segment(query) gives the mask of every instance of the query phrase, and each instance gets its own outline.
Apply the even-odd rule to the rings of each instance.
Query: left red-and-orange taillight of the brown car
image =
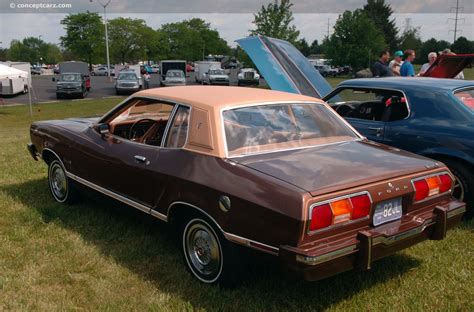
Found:
[[[309,230],[316,231],[331,225],[366,218],[370,214],[371,206],[372,201],[368,193],[315,204],[311,210]]]

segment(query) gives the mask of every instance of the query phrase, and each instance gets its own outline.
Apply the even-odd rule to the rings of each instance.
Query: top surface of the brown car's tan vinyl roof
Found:
[[[182,104],[196,105],[203,109],[220,109],[262,102],[320,101],[316,98],[260,88],[228,86],[182,86],[147,89],[134,96],[168,99]]]

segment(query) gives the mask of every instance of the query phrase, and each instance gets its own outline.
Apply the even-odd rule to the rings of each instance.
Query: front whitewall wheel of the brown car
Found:
[[[76,201],[77,191],[66,175],[62,163],[54,159],[48,165],[49,190],[58,203],[72,204]]]

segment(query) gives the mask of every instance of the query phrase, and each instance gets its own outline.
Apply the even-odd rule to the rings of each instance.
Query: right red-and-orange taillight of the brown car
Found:
[[[453,180],[447,173],[413,180],[415,202],[446,193],[451,190]]]

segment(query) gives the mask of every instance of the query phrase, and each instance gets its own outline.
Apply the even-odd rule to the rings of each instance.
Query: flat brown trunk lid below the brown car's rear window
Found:
[[[295,185],[312,196],[439,166],[427,158],[366,140],[250,155],[233,160]]]

